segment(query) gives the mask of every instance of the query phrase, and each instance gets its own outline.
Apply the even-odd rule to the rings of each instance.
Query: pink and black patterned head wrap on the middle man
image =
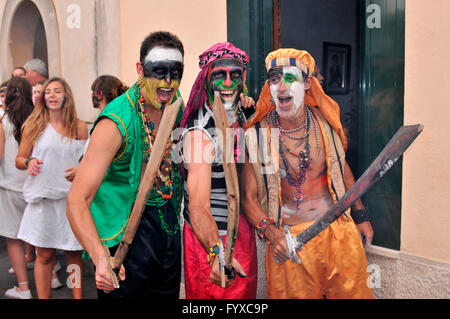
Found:
[[[192,86],[191,94],[189,96],[189,101],[186,105],[186,110],[184,111],[183,118],[181,119],[180,126],[185,127],[187,121],[192,117],[192,115],[200,109],[207,101],[208,95],[206,93],[206,88],[204,83],[208,75],[208,69],[212,62],[223,59],[223,58],[233,58],[242,63],[244,69],[247,68],[248,56],[244,50],[235,47],[230,42],[222,42],[213,45],[211,48],[203,52],[200,56],[200,73]]]

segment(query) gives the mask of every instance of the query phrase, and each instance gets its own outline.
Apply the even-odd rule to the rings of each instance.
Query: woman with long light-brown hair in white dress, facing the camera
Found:
[[[85,122],[75,111],[72,91],[60,78],[50,79],[35,110],[23,125],[16,167],[27,170],[23,188],[27,202],[18,237],[37,250],[34,266],[40,299],[50,298],[56,249],[65,251],[72,271],[72,294],[82,298],[82,246],[66,216],[70,167],[77,165],[88,138]]]

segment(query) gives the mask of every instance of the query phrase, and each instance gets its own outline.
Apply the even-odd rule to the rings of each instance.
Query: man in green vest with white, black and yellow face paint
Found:
[[[183,57],[183,44],[169,32],[151,33],[142,42],[137,83],[100,113],[70,190],[67,214],[96,266],[99,298],[179,297],[182,184],[172,163],[172,141],[164,150],[116,290],[102,245],[113,256],[123,237],[164,109],[180,97]],[[181,104],[174,128],[182,114]]]

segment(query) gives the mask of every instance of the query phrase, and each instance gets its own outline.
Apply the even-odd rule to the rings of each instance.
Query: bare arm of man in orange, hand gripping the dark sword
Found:
[[[252,164],[246,158],[240,170],[240,190],[241,190],[241,207],[244,215],[251,225],[256,227],[263,218],[269,218],[258,202],[258,188],[256,183],[255,172]],[[265,237],[273,246],[274,257],[280,261],[286,261],[289,258],[289,250],[287,248],[284,232],[275,225],[269,225],[264,233]]]

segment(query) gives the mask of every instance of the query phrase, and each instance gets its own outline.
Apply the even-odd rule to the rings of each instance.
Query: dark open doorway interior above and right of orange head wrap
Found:
[[[349,82],[346,83],[345,93],[327,93],[341,108],[341,122],[349,141],[347,161],[352,170],[358,172],[360,1],[277,0],[275,3],[279,3],[277,6],[281,9],[278,9],[280,22],[274,22],[274,25],[280,25],[281,30],[278,33],[280,39],[274,40],[274,43],[279,42],[283,48],[308,51],[325,78],[325,91],[332,80],[328,69],[331,68],[329,61],[333,51],[326,50],[327,44],[335,44],[334,48],[345,46],[349,50],[345,64]],[[274,10],[274,17],[276,12]],[[344,62],[342,60],[343,65]],[[340,72],[343,74],[343,71]]]

